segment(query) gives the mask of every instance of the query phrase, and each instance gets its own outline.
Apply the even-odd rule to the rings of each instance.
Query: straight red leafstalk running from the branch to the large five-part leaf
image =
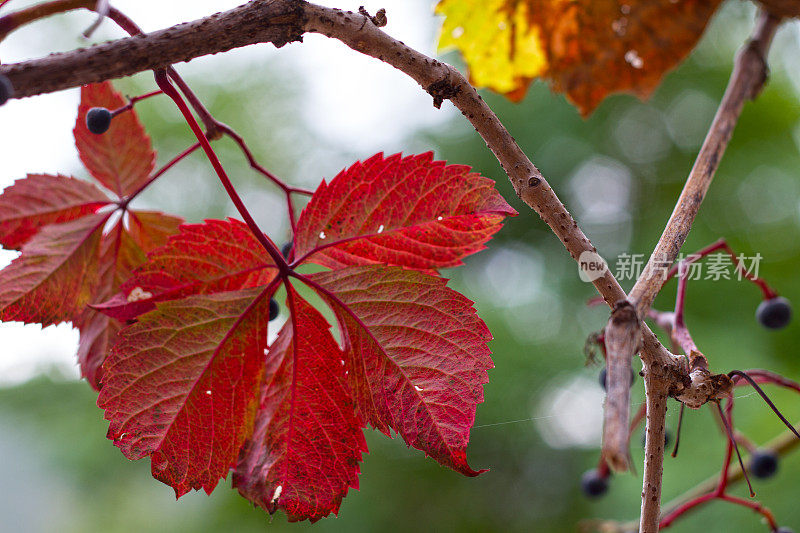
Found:
[[[239,211],[239,214],[244,219],[244,222],[250,228],[250,231],[253,232],[256,239],[261,243],[261,245],[267,250],[269,255],[272,257],[272,260],[275,262],[275,265],[278,267],[280,271],[280,276],[285,277],[289,271],[289,267],[286,264],[286,260],[281,255],[281,252],[278,248],[272,243],[272,241],[264,235],[264,232],[258,227],[256,221],[250,215],[250,212],[247,210],[247,207],[244,205],[239,193],[236,192],[236,189],[231,183],[228,174],[225,172],[225,169],[222,167],[222,163],[217,157],[217,154],[214,152],[214,149],[211,147],[211,143],[206,137],[206,134],[203,132],[203,129],[200,127],[200,124],[197,123],[197,120],[192,115],[192,112],[189,110],[189,106],[186,105],[186,102],[183,100],[183,97],[178,93],[175,87],[172,86],[172,83],[169,81],[169,77],[167,76],[166,70],[158,70],[155,73],[156,83],[164,91],[164,94],[169,96],[174,102],[175,105],[178,106],[180,109],[183,118],[189,124],[189,127],[192,129],[192,132],[197,137],[197,140],[200,142],[200,145],[203,148],[203,151],[208,156],[208,160],[211,162],[211,166],[214,167],[214,171],[219,176],[220,181],[222,182],[222,186],[225,188],[225,191],[230,196],[231,201],[233,201],[233,205],[236,206],[236,209]]]

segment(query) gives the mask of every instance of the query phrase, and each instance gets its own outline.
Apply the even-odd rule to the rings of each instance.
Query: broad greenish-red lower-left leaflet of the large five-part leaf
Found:
[[[210,493],[253,427],[271,291],[161,303],[120,332],[97,400],[109,438],[181,496]]]

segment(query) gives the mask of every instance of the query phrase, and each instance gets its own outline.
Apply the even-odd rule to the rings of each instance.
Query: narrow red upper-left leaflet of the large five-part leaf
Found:
[[[243,222],[185,225],[150,254],[120,294],[95,308],[129,320],[159,301],[266,285],[275,277],[271,266],[272,259]]]

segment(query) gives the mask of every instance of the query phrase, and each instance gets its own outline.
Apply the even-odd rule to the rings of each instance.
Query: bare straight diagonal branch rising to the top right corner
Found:
[[[755,98],[767,78],[766,56],[780,19],[762,13],[753,37],[739,52],[725,95],[703,141],[664,233],[630,293],[639,316],[644,316],[661,290],[666,272],[678,258],[697,212],[733,135],[745,101]]]

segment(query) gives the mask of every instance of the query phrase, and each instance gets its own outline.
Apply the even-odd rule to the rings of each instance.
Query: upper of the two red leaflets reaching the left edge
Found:
[[[108,203],[88,181],[28,174],[0,195],[0,244],[19,250],[43,226],[75,220]]]

